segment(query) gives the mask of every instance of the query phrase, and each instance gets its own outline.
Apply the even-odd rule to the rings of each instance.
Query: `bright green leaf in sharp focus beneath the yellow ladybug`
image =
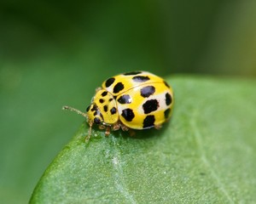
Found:
[[[172,120],[160,130],[83,124],[45,171],[31,203],[256,201],[256,82],[172,77]],[[68,115],[67,115],[68,116]]]

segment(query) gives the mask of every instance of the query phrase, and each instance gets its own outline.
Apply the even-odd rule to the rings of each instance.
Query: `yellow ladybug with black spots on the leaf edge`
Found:
[[[132,71],[102,82],[86,112],[69,106],[63,109],[87,118],[89,140],[93,124],[105,129],[106,136],[119,128],[123,131],[159,129],[172,115],[172,105],[172,88],[164,79],[148,71]]]

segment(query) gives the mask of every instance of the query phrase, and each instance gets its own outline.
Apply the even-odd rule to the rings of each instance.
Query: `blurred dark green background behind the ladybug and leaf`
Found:
[[[256,1],[1,1],[0,202],[26,203],[123,71],[256,76]]]

